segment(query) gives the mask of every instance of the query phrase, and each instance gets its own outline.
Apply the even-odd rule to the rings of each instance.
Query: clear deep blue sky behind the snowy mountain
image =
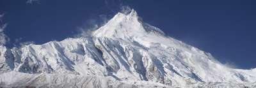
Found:
[[[210,52],[237,68],[256,67],[255,0],[0,0],[8,23],[9,47],[24,41],[36,44],[79,34],[78,27],[99,24],[127,5],[144,22],[169,36]],[[15,41],[19,39],[19,41]]]

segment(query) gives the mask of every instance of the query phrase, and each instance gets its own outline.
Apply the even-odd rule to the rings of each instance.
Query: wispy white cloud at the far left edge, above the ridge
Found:
[[[10,38],[4,34],[4,29],[7,27],[7,24],[3,23],[2,18],[4,17],[4,14],[0,15],[0,45],[5,45],[8,41],[10,41]]]

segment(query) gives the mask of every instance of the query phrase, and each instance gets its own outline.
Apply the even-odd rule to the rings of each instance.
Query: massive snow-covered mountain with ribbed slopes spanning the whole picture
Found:
[[[211,54],[117,13],[90,36],[22,48],[0,46],[2,87],[256,87],[256,69]]]

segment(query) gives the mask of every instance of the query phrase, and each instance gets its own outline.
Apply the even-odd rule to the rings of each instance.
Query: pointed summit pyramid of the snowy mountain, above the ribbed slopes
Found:
[[[147,32],[138,18],[133,9],[129,13],[119,12],[107,24],[94,31],[93,36],[123,39],[141,36]]]

